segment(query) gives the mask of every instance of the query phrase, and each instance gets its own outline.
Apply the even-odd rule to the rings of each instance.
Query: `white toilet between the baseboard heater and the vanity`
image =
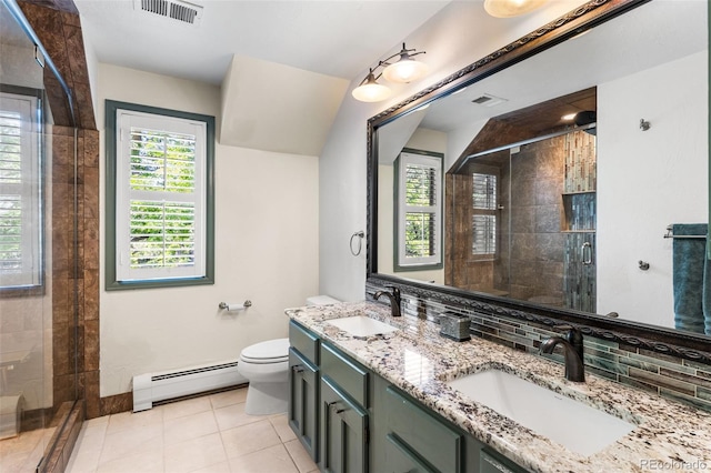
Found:
[[[307,305],[329,305],[339,301],[329,295],[307,299]],[[289,339],[267,340],[247,346],[240,353],[237,371],[247,378],[249,415],[287,412],[289,406]]]

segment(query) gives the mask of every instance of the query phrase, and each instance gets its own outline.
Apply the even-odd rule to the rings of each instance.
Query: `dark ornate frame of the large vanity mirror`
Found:
[[[483,313],[524,320],[548,326],[574,324],[589,336],[711,364],[711,339],[705,335],[680,332],[639,322],[615,320],[574,310],[543,308],[523,301],[405,280],[377,272],[378,128],[649,1],[653,0],[589,1],[368,120],[368,285],[380,288],[385,285],[397,286],[403,293],[411,294],[420,300],[445,302],[454,306],[473,309]]]

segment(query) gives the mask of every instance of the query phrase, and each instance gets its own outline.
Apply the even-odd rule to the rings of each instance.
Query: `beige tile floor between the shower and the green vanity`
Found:
[[[247,389],[84,422],[68,473],[310,473],[286,414],[244,414]]]

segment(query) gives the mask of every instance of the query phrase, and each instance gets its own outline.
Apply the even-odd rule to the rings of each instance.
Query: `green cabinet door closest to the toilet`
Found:
[[[293,349],[289,350],[289,425],[317,462],[319,445],[319,372]]]

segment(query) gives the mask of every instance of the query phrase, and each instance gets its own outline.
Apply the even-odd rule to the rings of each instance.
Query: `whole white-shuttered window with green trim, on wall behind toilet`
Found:
[[[213,282],[214,118],[107,101],[107,290]]]

